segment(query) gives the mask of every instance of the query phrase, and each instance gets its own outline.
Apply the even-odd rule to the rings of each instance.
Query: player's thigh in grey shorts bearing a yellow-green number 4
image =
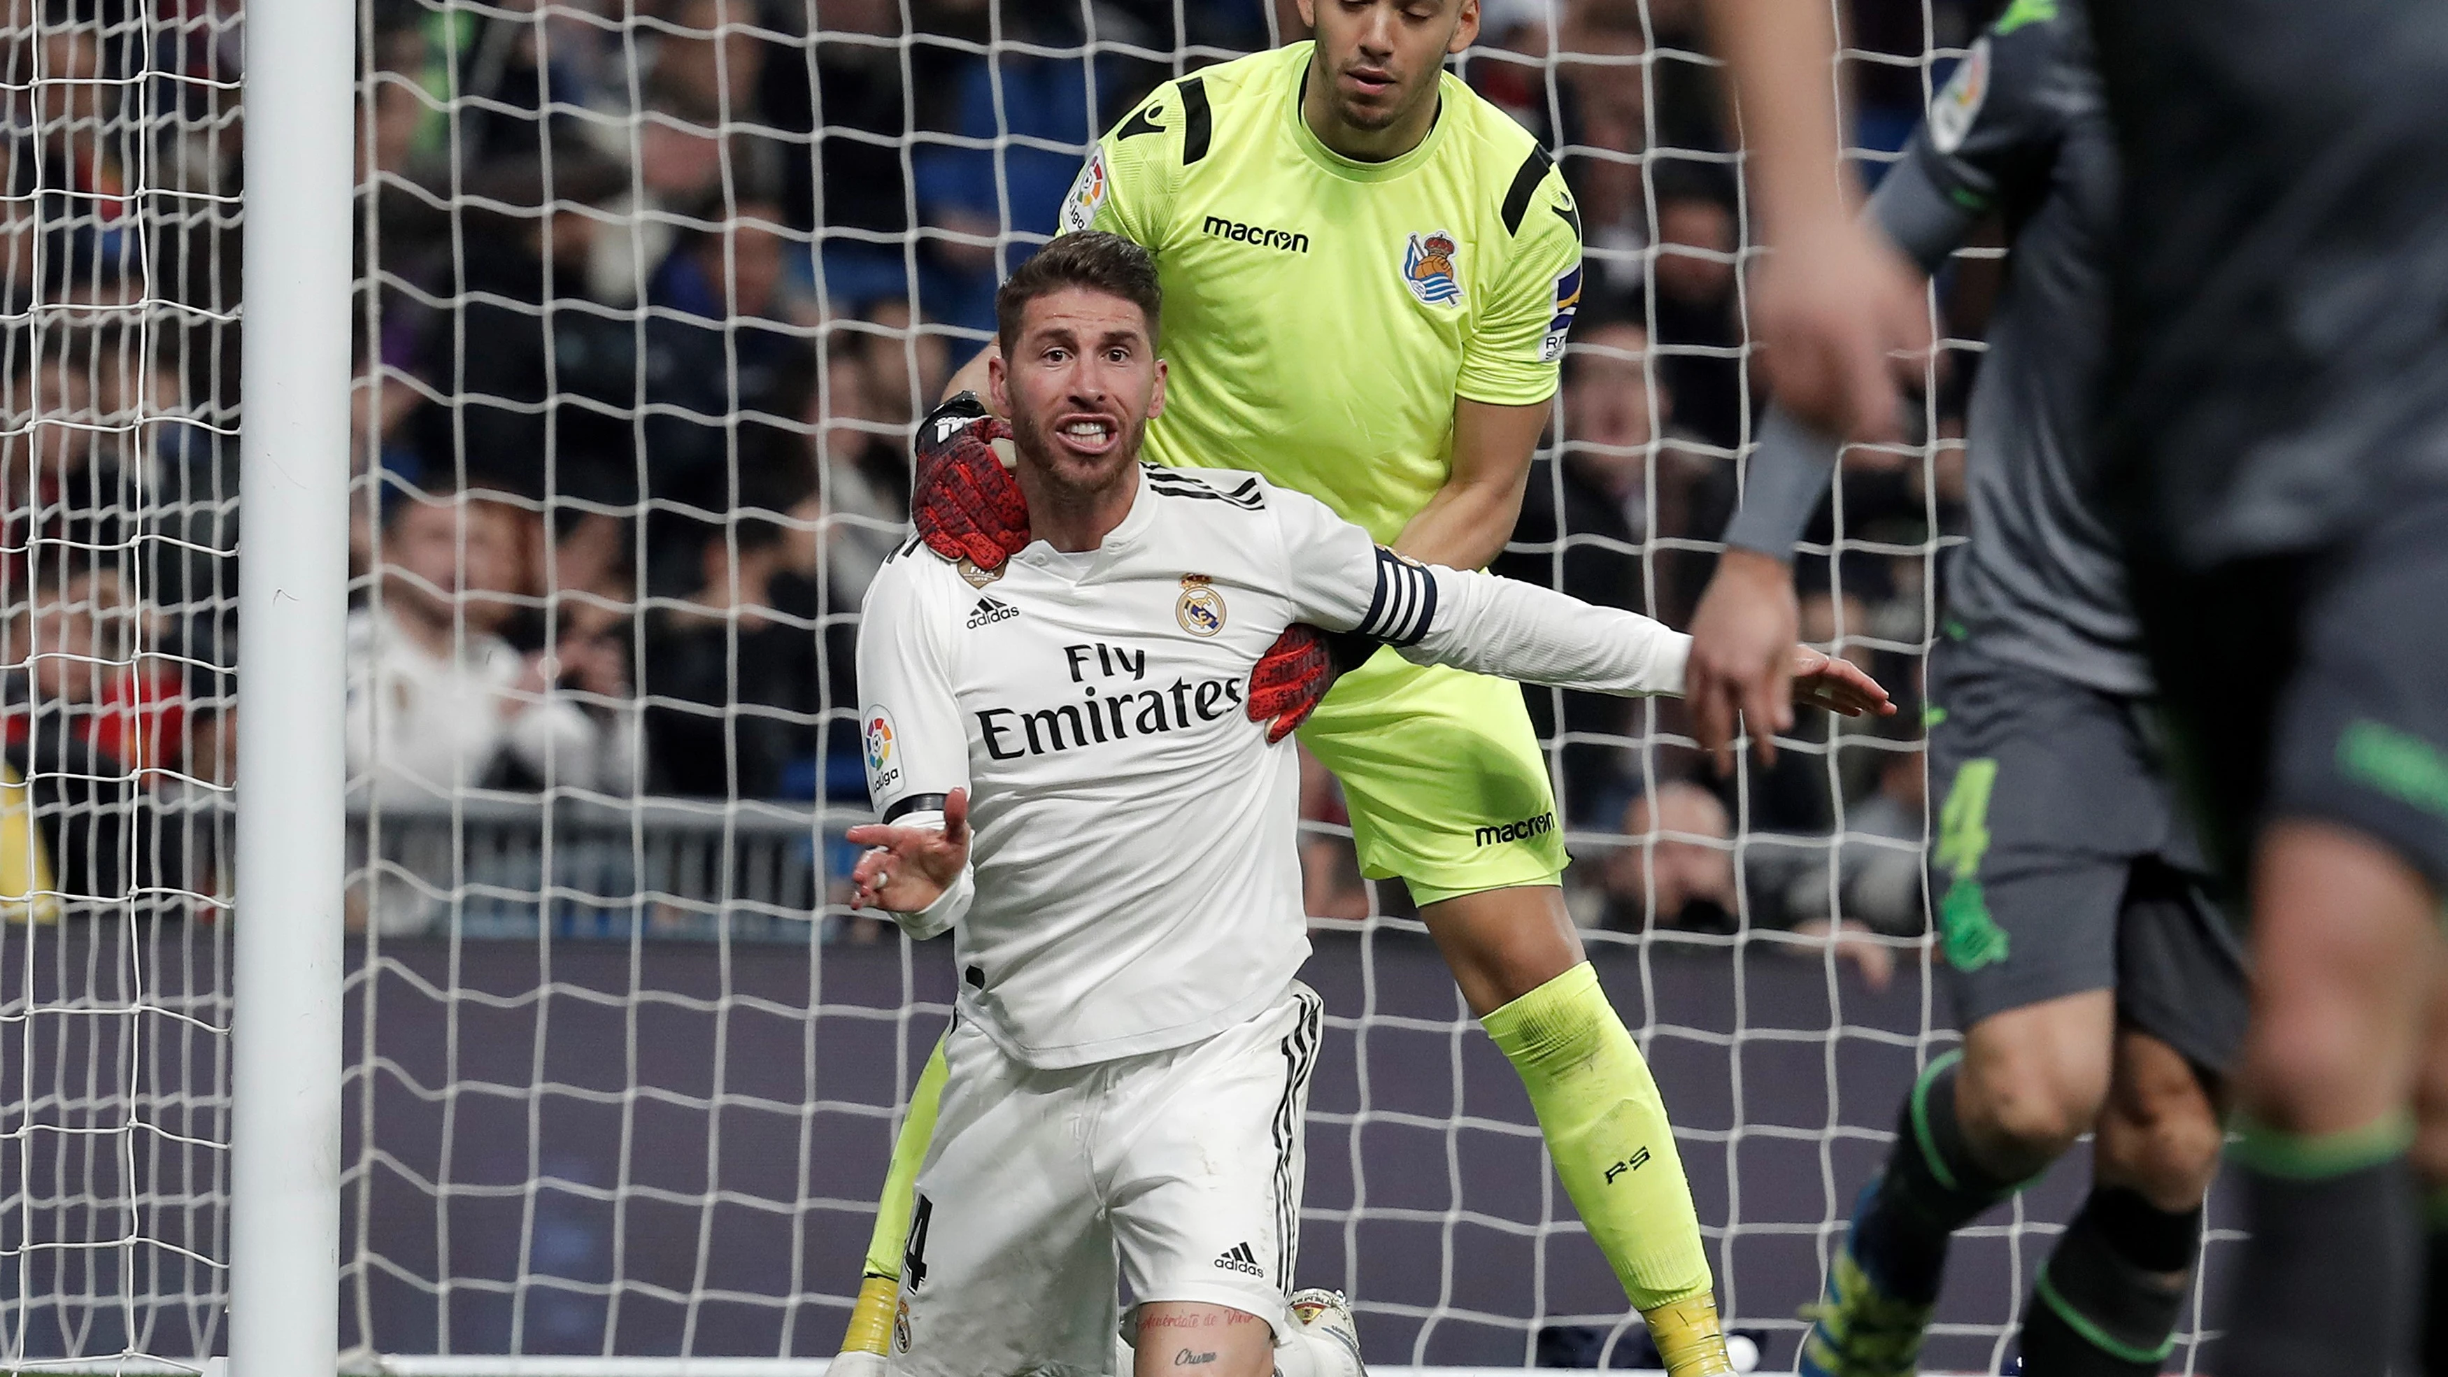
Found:
[[[1951,641],[1931,700],[1929,893],[1961,1027],[2113,988],[2130,873],[2171,827],[2127,707]]]

